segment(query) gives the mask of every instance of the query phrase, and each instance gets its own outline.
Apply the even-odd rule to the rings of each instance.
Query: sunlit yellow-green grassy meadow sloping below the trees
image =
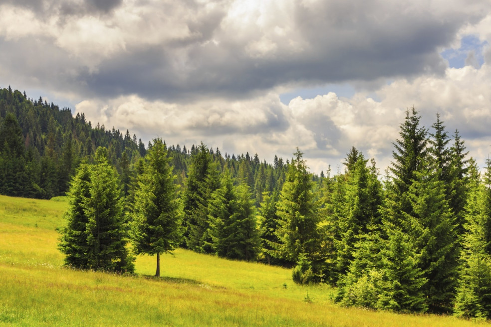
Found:
[[[135,276],[66,269],[66,206],[0,196],[0,326],[489,326],[340,308],[334,290],[297,286],[290,270],[186,250],[162,256],[160,279],[149,256]]]

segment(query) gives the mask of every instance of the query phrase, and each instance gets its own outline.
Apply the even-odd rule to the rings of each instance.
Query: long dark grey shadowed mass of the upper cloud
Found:
[[[293,26],[304,42],[298,53],[278,42],[274,55],[251,57],[243,39],[220,29],[223,12],[214,12],[188,22],[193,37],[175,39],[160,49],[135,47],[117,53],[97,73],[82,79],[99,95],[136,92],[149,99],[179,101],[248,97],[287,83],[441,75],[446,62],[438,49],[452,42],[469,19],[442,17],[430,10],[401,13],[375,1],[331,2],[320,1],[310,8],[296,4]],[[214,37],[219,44],[203,44]],[[259,37],[252,35],[246,41]],[[175,63],[175,52],[183,53],[183,65]]]

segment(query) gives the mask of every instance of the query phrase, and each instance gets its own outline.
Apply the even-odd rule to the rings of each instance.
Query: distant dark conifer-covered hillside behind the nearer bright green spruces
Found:
[[[128,130],[123,135],[114,127],[92,127],[83,113],[73,117],[69,108],[60,109],[41,97],[33,100],[10,87],[0,90],[0,194],[35,198],[63,195],[76,167],[82,160],[92,162],[98,147],[107,148],[127,194],[149,146],[150,142],[145,147]],[[177,182],[183,184],[191,157],[202,146],[168,148]],[[256,204],[264,190],[281,189],[285,172],[281,158],[275,156],[274,163],[268,164],[248,153],[231,156],[219,149],[207,151],[219,170],[228,167],[232,177],[247,182]],[[313,178],[317,179],[315,175]]]

